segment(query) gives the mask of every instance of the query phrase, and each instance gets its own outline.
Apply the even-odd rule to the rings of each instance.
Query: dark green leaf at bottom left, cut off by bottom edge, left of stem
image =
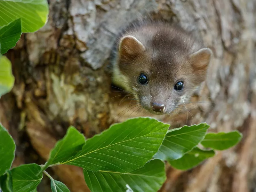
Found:
[[[15,192],[31,192],[43,178],[38,164],[24,164],[11,170],[12,188]]]

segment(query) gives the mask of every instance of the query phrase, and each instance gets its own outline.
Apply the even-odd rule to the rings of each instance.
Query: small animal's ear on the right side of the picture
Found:
[[[199,51],[192,53],[189,56],[189,60],[192,64],[192,67],[195,70],[207,70],[212,57],[212,50],[209,48],[203,48]]]

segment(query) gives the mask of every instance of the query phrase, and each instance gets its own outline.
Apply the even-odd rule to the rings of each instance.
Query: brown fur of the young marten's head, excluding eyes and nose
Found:
[[[212,55],[186,31],[164,23],[129,27],[118,38],[117,47],[114,68],[126,79],[123,87],[152,113],[153,102],[163,103],[164,113],[171,113],[200,85]],[[138,82],[141,73],[147,75],[148,84]],[[180,92],[174,90],[178,81],[184,82]]]

